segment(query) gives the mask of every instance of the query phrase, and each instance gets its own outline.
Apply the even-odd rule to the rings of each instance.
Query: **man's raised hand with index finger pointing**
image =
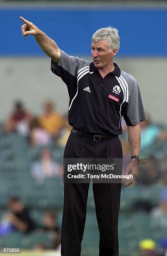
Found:
[[[32,22],[25,20],[22,17],[20,17],[20,20],[22,20],[25,23],[24,25],[21,26],[23,36],[35,36],[38,33],[39,28],[37,28]]]

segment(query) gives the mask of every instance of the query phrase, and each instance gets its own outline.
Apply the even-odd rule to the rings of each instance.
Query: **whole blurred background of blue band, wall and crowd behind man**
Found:
[[[114,26],[115,62],[140,85],[148,121],[141,123],[137,184],[122,185],[120,256],[167,254],[167,1],[0,1],[0,248],[60,256],[62,157],[70,134],[66,85],[20,15],[67,54],[91,61],[92,34]],[[123,169],[130,161],[122,120]],[[82,256],[98,255],[92,186]],[[49,253],[49,254],[47,254]],[[22,253],[24,254],[24,253]]]

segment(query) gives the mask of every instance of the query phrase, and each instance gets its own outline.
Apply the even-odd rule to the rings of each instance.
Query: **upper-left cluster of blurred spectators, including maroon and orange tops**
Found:
[[[68,115],[57,113],[51,100],[43,104],[43,113],[34,116],[25,109],[21,101],[14,104],[10,116],[3,125],[4,133],[16,132],[27,137],[30,148],[42,147],[40,161],[34,161],[31,174],[37,182],[45,177],[62,176],[62,164],[53,161],[50,144],[65,147],[72,127]]]

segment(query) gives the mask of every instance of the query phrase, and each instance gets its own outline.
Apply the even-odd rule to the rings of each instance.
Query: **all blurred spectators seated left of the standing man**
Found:
[[[54,109],[51,100],[43,104],[43,113],[35,116],[28,111],[21,101],[15,102],[9,117],[2,123],[2,133],[17,133],[27,138],[30,150],[41,147],[40,160],[33,161],[30,174],[37,183],[50,177],[62,177],[62,163],[52,159],[50,145],[65,147],[71,127],[68,116],[60,115]],[[17,146],[17,145],[16,145]],[[0,237],[15,230],[27,234],[33,230],[37,232],[51,231],[55,234],[52,248],[60,246],[60,227],[57,226],[55,212],[46,211],[41,227],[32,219],[29,209],[23,205],[18,197],[11,197],[7,202],[7,213],[0,221]],[[37,243],[37,249],[44,249],[44,243]]]

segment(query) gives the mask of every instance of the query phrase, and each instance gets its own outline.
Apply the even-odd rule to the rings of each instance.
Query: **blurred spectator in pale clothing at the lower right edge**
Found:
[[[150,214],[153,228],[167,229],[167,185],[162,189],[159,205],[154,207]]]

